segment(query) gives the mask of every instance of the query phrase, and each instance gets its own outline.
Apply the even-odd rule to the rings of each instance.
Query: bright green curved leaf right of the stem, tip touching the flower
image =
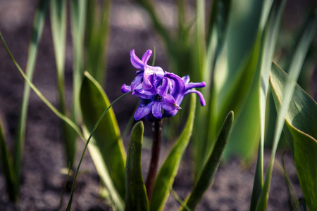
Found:
[[[178,141],[173,146],[168,154],[168,157],[163,162],[159,174],[157,174],[153,194],[151,198],[151,211],[163,210],[165,202],[169,195],[170,186],[173,185],[175,176],[178,172],[178,167],[182,159],[182,154],[185,152],[192,135],[192,127],[194,124],[194,113],[196,109],[196,95],[191,95],[190,110],[185,128]]]

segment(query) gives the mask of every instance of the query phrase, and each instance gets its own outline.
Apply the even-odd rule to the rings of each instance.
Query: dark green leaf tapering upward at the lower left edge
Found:
[[[16,191],[16,177],[13,170],[13,163],[6,146],[6,140],[4,135],[4,125],[0,118],[0,162],[2,170],[4,172],[4,177],[6,179],[6,190],[11,201],[16,202],[18,199],[18,191]]]

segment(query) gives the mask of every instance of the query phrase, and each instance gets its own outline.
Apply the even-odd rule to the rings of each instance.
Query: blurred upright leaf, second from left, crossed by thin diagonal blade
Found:
[[[67,1],[56,0],[50,1],[51,13],[51,32],[54,44],[54,53],[57,72],[58,86],[58,103],[61,113],[69,116],[66,105],[65,94],[65,49],[66,49],[66,25],[67,25]],[[63,143],[66,150],[66,162],[70,162],[70,167],[73,167],[76,154],[76,133],[66,122],[62,122],[61,130],[63,133]]]

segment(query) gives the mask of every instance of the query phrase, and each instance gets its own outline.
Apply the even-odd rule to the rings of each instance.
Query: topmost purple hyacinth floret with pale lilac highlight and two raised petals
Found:
[[[142,88],[143,89],[151,89],[153,87],[153,84],[149,82],[149,77],[151,75],[154,75],[154,84],[157,84],[158,82],[161,81],[161,79],[164,77],[165,72],[161,67],[154,67],[147,65],[147,62],[149,58],[152,55],[151,50],[147,50],[143,56],[142,59],[140,60],[136,55],[135,55],[135,50],[130,51],[130,60],[132,65],[137,68],[137,70],[141,70],[139,73],[143,73],[143,83],[142,83]]]

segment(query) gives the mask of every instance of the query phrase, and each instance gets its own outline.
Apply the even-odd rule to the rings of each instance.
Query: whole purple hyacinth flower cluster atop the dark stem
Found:
[[[185,95],[196,93],[200,98],[202,106],[206,105],[204,96],[193,88],[205,87],[205,82],[189,83],[189,76],[179,77],[170,72],[164,71],[160,67],[147,65],[152,51],[147,50],[139,59],[135,55],[135,50],[130,52],[131,63],[137,68],[135,79],[131,85],[121,87],[121,91],[137,95],[141,99],[139,107],[135,111],[135,120],[146,120],[153,122],[155,118],[172,117],[180,110],[180,103]],[[163,113],[162,113],[163,109]]]

